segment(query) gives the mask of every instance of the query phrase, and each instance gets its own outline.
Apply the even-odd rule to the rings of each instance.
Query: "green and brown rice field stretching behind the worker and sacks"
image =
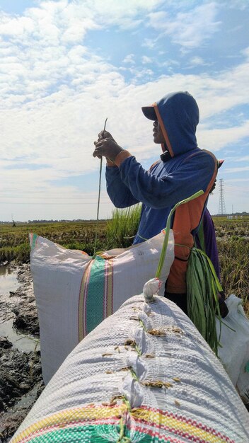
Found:
[[[129,217],[129,214],[127,216]],[[110,225],[110,221],[98,222],[96,251],[127,247],[132,244],[132,235],[137,230],[139,212],[135,217],[134,224],[129,226],[129,230],[127,230],[126,219],[119,218],[117,223],[115,217],[114,214],[115,222],[112,225]],[[125,226],[121,226],[122,223]],[[115,235],[117,226],[121,232],[118,236]],[[245,304],[245,310],[249,313],[249,217],[237,219],[214,217],[214,226],[219,249],[221,284],[224,292],[226,295],[233,293],[241,297]],[[49,238],[66,248],[80,249],[93,255],[95,231],[96,224],[93,221],[17,224],[16,227],[13,227],[12,224],[1,224],[0,263],[11,260],[16,260],[17,263],[28,263],[30,253],[28,234],[30,232]],[[124,244],[120,240],[122,236],[125,237]]]

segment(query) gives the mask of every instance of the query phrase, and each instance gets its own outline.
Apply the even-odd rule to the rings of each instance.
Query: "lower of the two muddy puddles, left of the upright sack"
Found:
[[[33,335],[22,334],[13,328],[13,321],[0,324],[0,337],[7,337],[13,347],[22,352],[40,350],[40,341]]]

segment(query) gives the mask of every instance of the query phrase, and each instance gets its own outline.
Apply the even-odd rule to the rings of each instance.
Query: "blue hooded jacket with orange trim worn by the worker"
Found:
[[[142,110],[149,119],[159,121],[168,153],[163,154],[149,171],[128,151],[125,155],[122,151],[120,163],[115,161],[118,166],[106,168],[107,191],[115,207],[143,204],[134,244],[164,229],[170,209],[177,202],[199,190],[206,192],[214,182],[217,165],[213,154],[197,146],[195,131],[199,109],[189,93],[169,93]],[[204,205],[207,197],[208,194]],[[197,225],[200,217],[197,217]]]

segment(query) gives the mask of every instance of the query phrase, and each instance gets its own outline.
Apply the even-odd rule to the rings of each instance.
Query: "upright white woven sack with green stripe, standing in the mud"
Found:
[[[82,251],[30,235],[45,384],[85,335],[129,297],[140,294],[144,282],[156,275],[164,236],[161,232],[137,246],[107,251],[93,259]],[[173,258],[170,231],[161,295]]]

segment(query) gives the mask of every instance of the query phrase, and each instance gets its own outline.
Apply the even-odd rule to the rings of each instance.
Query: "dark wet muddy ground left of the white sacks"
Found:
[[[0,290],[0,323],[13,321],[17,332],[30,338],[30,350],[22,351],[0,336],[0,442],[8,442],[42,392],[39,324],[30,265],[16,272],[20,286],[8,297]],[[12,323],[11,323],[12,324]],[[23,335],[21,335],[23,337]]]

